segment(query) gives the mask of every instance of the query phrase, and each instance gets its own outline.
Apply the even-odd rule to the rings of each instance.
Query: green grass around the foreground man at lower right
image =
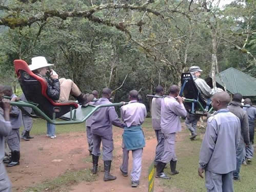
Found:
[[[187,130],[185,132],[188,132]],[[178,188],[186,192],[206,191],[205,179],[198,176],[198,162],[201,148],[201,139],[190,141],[185,137],[177,142],[176,155],[178,157],[177,170],[180,174],[171,176],[170,180],[161,180],[166,188]],[[256,191],[256,160],[247,166],[241,166],[241,181],[234,182],[234,191],[247,192]],[[170,167],[165,169],[168,176]]]

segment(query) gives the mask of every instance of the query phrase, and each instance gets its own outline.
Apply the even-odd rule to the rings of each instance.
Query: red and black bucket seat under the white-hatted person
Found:
[[[76,102],[54,102],[47,95],[47,81],[43,77],[30,71],[28,64],[24,60],[14,60],[13,62],[18,82],[26,99],[30,102],[38,103],[37,107],[49,118],[53,118],[54,112],[57,118],[68,113],[70,109],[78,107]],[[36,115],[40,116],[40,114]]]

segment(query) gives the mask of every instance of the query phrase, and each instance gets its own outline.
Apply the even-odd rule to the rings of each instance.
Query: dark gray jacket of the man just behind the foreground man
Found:
[[[240,102],[232,101],[228,106],[230,112],[237,116],[241,123],[241,141],[249,144],[249,123],[247,113],[243,110],[243,105]]]

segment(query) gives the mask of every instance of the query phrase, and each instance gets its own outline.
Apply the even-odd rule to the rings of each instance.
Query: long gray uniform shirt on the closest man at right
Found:
[[[215,174],[227,174],[237,166],[236,148],[240,140],[240,120],[221,109],[207,120],[199,166]]]

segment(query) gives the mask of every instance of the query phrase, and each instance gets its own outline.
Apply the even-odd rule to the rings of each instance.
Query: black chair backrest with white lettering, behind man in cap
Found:
[[[185,85],[184,85],[185,83]],[[183,96],[187,99],[195,99],[198,100],[205,109],[206,102],[203,99],[201,93],[199,92],[198,88],[195,85],[195,82],[193,80],[193,76],[191,73],[182,73],[181,75],[181,84],[183,89]],[[192,103],[191,102],[184,102],[185,108],[190,112],[192,109]],[[199,110],[199,105],[194,103],[194,110]]]

